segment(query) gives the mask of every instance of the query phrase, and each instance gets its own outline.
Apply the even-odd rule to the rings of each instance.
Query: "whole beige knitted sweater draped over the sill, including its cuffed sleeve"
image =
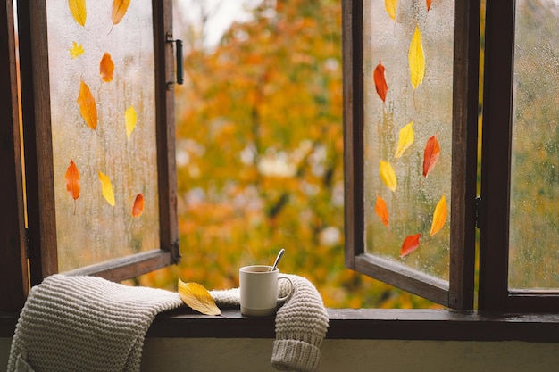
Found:
[[[271,363],[280,370],[314,371],[328,316],[313,285],[289,277],[295,290],[276,317]],[[219,306],[236,306],[238,293],[212,292]],[[178,293],[161,289],[99,277],[47,277],[21,310],[7,371],[139,371],[155,315],[181,305]]]

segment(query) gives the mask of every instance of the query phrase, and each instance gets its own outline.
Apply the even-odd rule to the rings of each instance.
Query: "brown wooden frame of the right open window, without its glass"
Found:
[[[365,252],[363,1],[343,1],[346,267],[453,309],[474,296],[480,2],[455,1],[449,280]]]

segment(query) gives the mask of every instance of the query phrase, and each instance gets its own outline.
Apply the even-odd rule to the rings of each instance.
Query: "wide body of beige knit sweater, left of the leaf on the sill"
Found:
[[[11,371],[139,371],[155,315],[182,304],[178,293],[99,277],[47,277],[21,310]]]

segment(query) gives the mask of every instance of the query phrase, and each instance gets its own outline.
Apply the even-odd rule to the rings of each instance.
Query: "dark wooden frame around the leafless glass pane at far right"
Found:
[[[479,308],[555,312],[559,291],[508,287],[516,6],[496,0],[486,7]]]

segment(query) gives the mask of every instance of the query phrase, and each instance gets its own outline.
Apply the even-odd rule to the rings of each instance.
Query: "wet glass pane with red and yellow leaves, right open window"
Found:
[[[447,280],[454,2],[366,0],[363,18],[366,251]]]

